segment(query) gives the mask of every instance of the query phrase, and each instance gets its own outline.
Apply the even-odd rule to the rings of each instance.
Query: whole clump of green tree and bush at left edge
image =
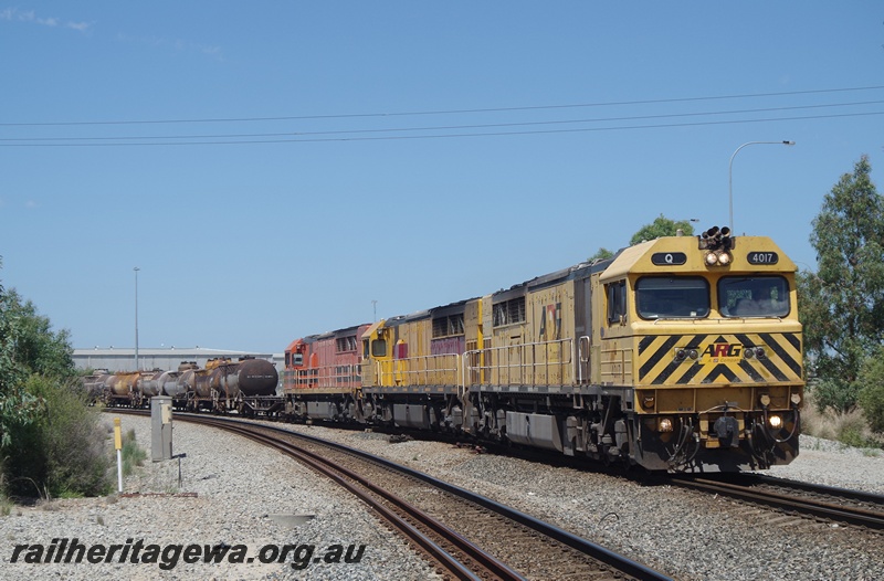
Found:
[[[70,334],[0,286],[0,485],[45,496],[108,488],[99,414],[76,379]]]

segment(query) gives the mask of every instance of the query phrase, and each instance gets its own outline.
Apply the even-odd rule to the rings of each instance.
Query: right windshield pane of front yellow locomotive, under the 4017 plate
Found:
[[[718,308],[725,317],[785,317],[789,283],[782,276],[725,276],[718,281]]]

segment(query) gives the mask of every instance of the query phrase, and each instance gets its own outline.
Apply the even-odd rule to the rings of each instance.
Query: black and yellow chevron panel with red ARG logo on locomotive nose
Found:
[[[764,357],[746,358],[764,348]],[[697,356],[678,360],[676,353]],[[655,335],[639,341],[640,385],[781,383],[801,381],[797,332]]]

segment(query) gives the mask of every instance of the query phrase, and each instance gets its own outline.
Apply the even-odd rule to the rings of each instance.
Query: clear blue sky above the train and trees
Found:
[[[726,224],[781,140],[735,230],[815,268],[883,45],[877,1],[0,0],[0,282],[131,347],[138,266],[141,348],[278,352]]]

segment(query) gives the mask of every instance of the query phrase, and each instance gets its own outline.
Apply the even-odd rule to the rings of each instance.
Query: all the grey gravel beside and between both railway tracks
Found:
[[[150,450],[148,420],[123,416],[123,425],[124,430],[134,427],[139,443]],[[390,444],[387,436],[370,432],[288,429],[367,450],[476,489],[680,580],[881,577],[884,536],[771,515],[667,486],[648,487],[440,443]],[[796,462],[769,473],[884,494],[884,455],[809,436],[801,436],[801,445]],[[177,462],[148,461],[137,477],[126,480],[126,490],[180,490],[197,493],[196,498],[112,496],[13,509],[10,516],[0,517],[0,554],[6,561],[0,579],[433,578],[433,572],[359,503],[294,462],[242,439],[224,440],[210,429],[185,422],[175,424],[173,451],[187,453],[181,461],[180,489]],[[293,527],[276,516],[302,514],[315,518]],[[32,550],[29,548],[22,550],[19,562],[9,562],[17,545],[49,547],[56,538],[77,538],[88,546],[126,545],[133,539],[133,547],[144,539],[145,551],[150,543],[165,548],[225,542],[234,548],[246,546],[249,556],[255,559],[252,563],[186,563],[182,553],[169,570],[161,569],[161,562],[119,563],[119,559],[99,564],[32,564],[22,562]],[[262,547],[286,543],[302,552],[290,554],[285,563],[259,562]],[[313,558],[325,557],[336,545],[345,552],[351,545],[366,548],[358,563],[345,563],[341,556],[337,563],[320,560],[308,562],[302,570],[293,569],[292,563],[306,554],[309,545],[316,547]]]

